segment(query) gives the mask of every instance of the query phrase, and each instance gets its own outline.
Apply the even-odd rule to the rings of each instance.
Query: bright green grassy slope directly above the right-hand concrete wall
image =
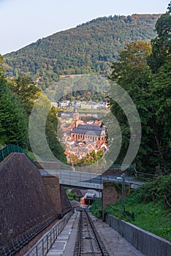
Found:
[[[132,202],[133,199],[134,195],[126,198],[124,215],[121,214],[121,201],[108,206],[105,214],[111,214],[171,241],[171,211],[170,208],[164,210],[163,200],[157,200],[156,203],[136,203]]]

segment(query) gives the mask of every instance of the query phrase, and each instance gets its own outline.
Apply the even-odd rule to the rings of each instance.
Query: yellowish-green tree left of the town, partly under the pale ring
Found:
[[[29,121],[31,148],[42,159],[55,160],[57,158],[66,162],[64,148],[58,142],[57,126],[56,109],[51,108],[50,101],[44,94],[41,94],[34,105]]]

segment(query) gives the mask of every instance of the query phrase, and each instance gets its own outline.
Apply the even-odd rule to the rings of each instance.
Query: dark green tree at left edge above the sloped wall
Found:
[[[0,77],[0,143],[27,147],[26,113],[20,99],[12,94],[7,79]]]

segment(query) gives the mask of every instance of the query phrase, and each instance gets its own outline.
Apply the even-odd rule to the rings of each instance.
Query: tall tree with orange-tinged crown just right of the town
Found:
[[[127,45],[126,50],[120,54],[119,63],[112,66],[110,80],[122,86],[137,107],[142,124],[142,140],[135,162],[141,170],[152,172],[164,159],[151,92],[151,69],[147,64],[150,54],[151,46],[146,42],[132,42]],[[129,146],[129,124],[123,110],[115,101],[110,100],[110,108],[121,125],[123,143],[118,157],[118,162],[121,163]]]

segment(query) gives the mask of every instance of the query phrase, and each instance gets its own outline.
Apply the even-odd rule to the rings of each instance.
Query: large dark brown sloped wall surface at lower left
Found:
[[[0,246],[55,214],[39,170],[12,154],[0,165]]]

